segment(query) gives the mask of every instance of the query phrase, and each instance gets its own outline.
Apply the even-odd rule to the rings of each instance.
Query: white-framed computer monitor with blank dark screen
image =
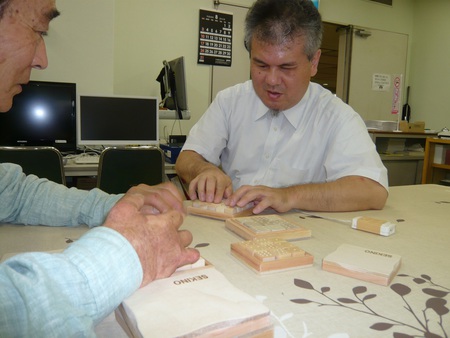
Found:
[[[158,145],[158,99],[80,95],[77,143],[78,146]]]

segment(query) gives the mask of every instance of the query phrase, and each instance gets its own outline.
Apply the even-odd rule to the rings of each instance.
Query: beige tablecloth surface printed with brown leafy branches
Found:
[[[424,336],[426,327],[449,336],[449,187],[392,187],[383,210],[314,214],[341,220],[375,217],[396,222],[397,231],[383,237],[287,213],[287,218],[312,230],[311,238],[293,243],[314,256],[314,265],[258,275],[231,256],[230,244],[242,239],[225,229],[223,221],[188,216],[183,227],[193,233],[193,246],[199,246],[205,259],[271,309],[276,337],[386,337],[394,332]],[[0,255],[62,249],[86,230],[0,225]],[[323,271],[322,259],[343,243],[400,255],[399,274],[390,286],[381,286]],[[113,315],[96,331],[100,337],[125,337]]]

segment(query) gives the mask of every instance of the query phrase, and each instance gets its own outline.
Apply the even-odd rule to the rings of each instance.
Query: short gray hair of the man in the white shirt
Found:
[[[322,19],[311,0],[257,0],[245,18],[245,48],[252,39],[283,44],[305,37],[305,54],[312,60],[322,44]]]

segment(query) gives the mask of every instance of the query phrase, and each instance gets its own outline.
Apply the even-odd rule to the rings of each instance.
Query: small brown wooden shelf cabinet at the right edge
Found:
[[[422,183],[446,184],[450,180],[450,139],[428,138],[425,144]]]

